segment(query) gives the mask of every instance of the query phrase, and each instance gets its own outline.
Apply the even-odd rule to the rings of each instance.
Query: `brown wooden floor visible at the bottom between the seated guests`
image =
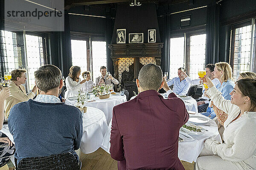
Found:
[[[81,170],[117,170],[117,161],[112,159],[110,154],[101,147],[93,153],[81,153],[80,160],[82,161]],[[193,170],[193,164],[183,162],[185,170]],[[1,167],[0,170],[9,170],[7,165]]]

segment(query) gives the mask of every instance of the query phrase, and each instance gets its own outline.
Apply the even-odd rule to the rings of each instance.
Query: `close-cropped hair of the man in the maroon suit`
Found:
[[[141,68],[138,79],[140,87],[144,91],[158,91],[163,82],[163,72],[159,66],[155,64],[147,64]]]

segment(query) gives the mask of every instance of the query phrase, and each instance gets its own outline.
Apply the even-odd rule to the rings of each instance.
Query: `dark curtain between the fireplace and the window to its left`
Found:
[[[112,36],[113,36],[113,26],[114,26],[114,19],[111,17],[107,17],[106,18],[106,31],[105,31],[105,38],[106,38],[106,42],[107,42],[107,68],[108,71],[110,71],[110,73],[112,74],[112,76],[114,75],[114,66],[113,66],[113,62],[111,59],[111,50],[110,48],[108,48],[108,45],[111,44],[112,41]]]

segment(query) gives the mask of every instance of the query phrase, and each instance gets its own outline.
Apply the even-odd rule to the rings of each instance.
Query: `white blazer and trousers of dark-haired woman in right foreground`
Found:
[[[228,113],[224,122],[223,140],[220,144],[213,139],[205,141],[205,149],[212,156],[202,156],[197,159],[195,170],[256,170],[256,112],[247,112],[233,121],[240,109],[230,100],[225,100],[221,92],[214,86],[206,92],[217,108]],[[232,122],[233,121],[233,122]],[[217,157],[216,157],[217,156]],[[214,161],[214,164],[211,163]],[[220,166],[221,167],[218,167]],[[207,168],[206,168],[207,167]]]

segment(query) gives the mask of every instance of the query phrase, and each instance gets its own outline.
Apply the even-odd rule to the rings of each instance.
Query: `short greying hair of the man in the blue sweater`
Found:
[[[34,73],[35,84],[38,89],[47,93],[47,91],[57,88],[61,82],[61,71],[55,65],[43,65]]]

